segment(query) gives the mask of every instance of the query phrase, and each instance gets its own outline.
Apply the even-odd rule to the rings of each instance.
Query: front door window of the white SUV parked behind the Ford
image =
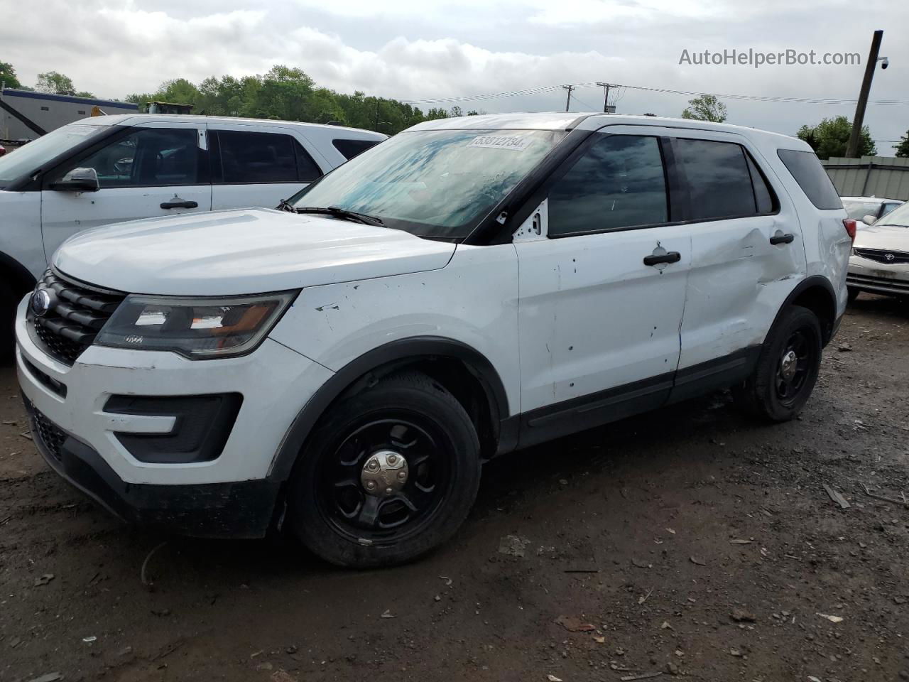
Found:
[[[201,156],[195,128],[137,128],[76,166],[95,168],[102,188],[197,185]]]

